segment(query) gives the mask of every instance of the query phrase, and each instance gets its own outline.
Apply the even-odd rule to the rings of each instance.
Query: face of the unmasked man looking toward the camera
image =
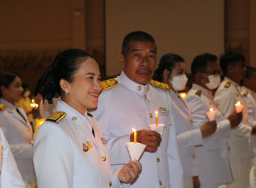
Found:
[[[156,44],[152,42],[129,42],[129,50],[119,54],[125,75],[138,84],[147,84],[156,68]]]

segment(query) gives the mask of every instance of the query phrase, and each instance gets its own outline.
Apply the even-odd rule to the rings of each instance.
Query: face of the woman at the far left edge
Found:
[[[20,77],[15,77],[8,88],[1,86],[1,92],[3,94],[3,99],[11,104],[22,99],[24,89],[22,88],[22,79]]]

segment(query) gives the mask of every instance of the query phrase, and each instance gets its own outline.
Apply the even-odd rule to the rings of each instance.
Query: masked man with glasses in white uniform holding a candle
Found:
[[[212,139],[203,140],[203,144],[195,148],[199,180],[203,188],[217,188],[232,182],[228,137],[230,130],[236,128],[243,117],[242,113],[233,111],[225,118],[214,102],[212,91],[220,84],[221,75],[217,60],[217,56],[208,53],[193,59],[191,64],[193,85],[186,97],[192,109],[193,128],[200,128],[209,121],[206,113],[211,108],[216,112],[214,120],[217,122],[217,129]]]

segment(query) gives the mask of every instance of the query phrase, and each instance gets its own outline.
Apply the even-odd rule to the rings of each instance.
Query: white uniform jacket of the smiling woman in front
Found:
[[[120,169],[111,173],[98,123],[61,100],[57,111],[67,115],[59,123],[46,121],[36,134],[33,161],[38,187],[120,187]]]

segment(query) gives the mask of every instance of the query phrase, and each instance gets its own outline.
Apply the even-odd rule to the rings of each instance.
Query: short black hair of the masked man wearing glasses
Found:
[[[191,63],[191,76],[195,79],[195,75],[207,69],[207,62],[216,61],[218,57],[214,54],[201,54],[196,56]]]

